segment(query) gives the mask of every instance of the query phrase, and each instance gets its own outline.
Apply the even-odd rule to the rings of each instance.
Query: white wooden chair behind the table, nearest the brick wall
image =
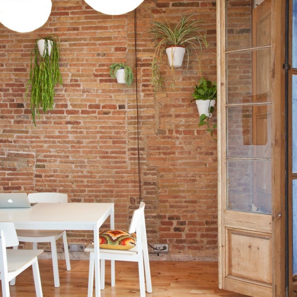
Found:
[[[62,193],[31,193],[28,194],[30,203],[67,203],[68,196],[67,194]],[[59,270],[58,270],[58,257],[57,257],[57,247],[56,240],[62,237],[65,260],[67,270],[71,270],[68,244],[65,230],[16,230],[19,241],[22,242],[32,242],[33,249],[37,249],[37,243],[39,242],[50,242],[51,251],[52,251],[52,261],[53,261],[53,270],[54,270],[54,284],[55,287],[60,286],[59,280]],[[18,248],[18,247],[14,247]],[[15,284],[15,279],[11,281],[11,285]]]

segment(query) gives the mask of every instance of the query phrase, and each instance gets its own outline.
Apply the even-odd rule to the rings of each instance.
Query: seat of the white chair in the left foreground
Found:
[[[8,272],[17,271],[42,252],[43,250],[6,249]]]

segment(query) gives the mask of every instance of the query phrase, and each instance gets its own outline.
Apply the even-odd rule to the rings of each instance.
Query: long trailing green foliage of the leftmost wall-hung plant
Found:
[[[37,42],[41,39],[45,40],[43,57],[41,57],[37,46]],[[48,41],[50,41],[52,46],[50,56]],[[56,95],[54,87],[56,84],[62,85],[62,76],[59,70],[59,47],[60,42],[58,41],[58,37],[51,34],[38,38],[31,52],[30,77],[26,87],[25,100],[27,100],[29,85],[31,84],[30,109],[35,126],[36,114],[40,118],[39,108],[42,107],[44,113],[47,110],[53,110],[54,96]],[[33,53],[34,66],[32,61]]]

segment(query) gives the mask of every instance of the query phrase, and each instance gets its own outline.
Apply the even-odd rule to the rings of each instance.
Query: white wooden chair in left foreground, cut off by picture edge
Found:
[[[9,297],[9,281],[32,265],[36,296],[42,297],[37,256],[43,250],[6,249],[19,244],[12,222],[0,222],[0,276],[2,296]]]

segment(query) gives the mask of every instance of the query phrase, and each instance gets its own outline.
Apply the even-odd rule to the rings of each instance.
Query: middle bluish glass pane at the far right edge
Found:
[[[293,173],[297,173],[297,75],[292,77],[292,136]]]

